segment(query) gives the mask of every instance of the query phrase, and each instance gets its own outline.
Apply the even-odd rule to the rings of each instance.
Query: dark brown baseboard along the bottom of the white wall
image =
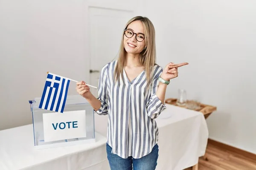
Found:
[[[233,146],[230,146],[228,144],[224,144],[224,143],[215,141],[213,139],[208,139],[208,143],[212,144],[214,146],[220,147],[222,149],[229,150],[229,151],[232,151],[234,153],[238,153],[240,155],[246,156],[247,158],[256,160],[256,154],[250,153],[250,152],[248,152],[246,150],[241,150],[241,149],[239,149],[237,147],[233,147]]]

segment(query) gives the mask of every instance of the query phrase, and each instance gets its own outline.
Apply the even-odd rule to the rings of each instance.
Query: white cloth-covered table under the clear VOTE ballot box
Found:
[[[95,136],[95,143],[35,150],[32,125],[1,130],[0,170],[105,170],[106,137]]]

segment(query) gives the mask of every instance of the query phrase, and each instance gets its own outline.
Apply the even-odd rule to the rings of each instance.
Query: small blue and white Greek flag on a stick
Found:
[[[47,74],[39,108],[63,113],[70,79]]]

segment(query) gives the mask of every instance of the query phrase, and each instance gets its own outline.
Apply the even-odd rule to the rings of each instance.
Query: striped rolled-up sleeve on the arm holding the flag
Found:
[[[108,65],[105,65],[102,68],[101,74],[99,76],[99,85],[98,85],[99,97],[98,97],[98,99],[101,102],[101,107],[97,111],[94,110],[94,112],[98,113],[99,115],[108,114],[107,69],[108,69]]]

